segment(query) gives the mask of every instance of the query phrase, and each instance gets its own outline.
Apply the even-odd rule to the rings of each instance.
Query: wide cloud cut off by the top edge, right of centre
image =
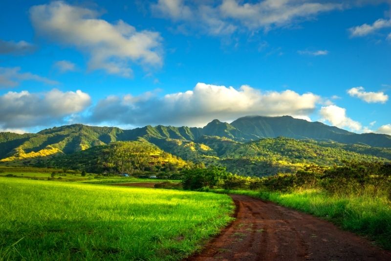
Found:
[[[182,25],[201,26],[212,35],[231,34],[239,27],[270,30],[312,18],[319,13],[342,9],[332,1],[261,0],[213,1],[158,0],[152,12]]]

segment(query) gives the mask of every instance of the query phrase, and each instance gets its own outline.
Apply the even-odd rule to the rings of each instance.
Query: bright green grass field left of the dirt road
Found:
[[[0,177],[0,260],[180,260],[233,208],[212,193]]]

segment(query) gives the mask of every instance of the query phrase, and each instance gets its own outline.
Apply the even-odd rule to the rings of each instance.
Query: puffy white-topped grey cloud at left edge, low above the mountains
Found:
[[[62,122],[64,117],[85,110],[91,98],[81,90],[44,93],[9,91],[0,96],[0,129],[47,126]]]

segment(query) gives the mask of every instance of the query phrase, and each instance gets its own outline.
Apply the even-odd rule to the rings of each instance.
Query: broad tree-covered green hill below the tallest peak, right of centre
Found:
[[[337,144],[339,146],[336,143],[328,144],[314,140],[295,140],[284,137],[265,138],[232,147],[221,155],[220,164],[232,173],[264,176],[292,173],[307,165],[342,165],[344,161],[352,160],[386,162],[391,157],[391,153],[387,150],[382,153],[384,157],[376,157],[364,153],[372,152],[370,150],[359,153],[342,148],[348,145]],[[375,153],[381,151],[380,148],[373,150]]]

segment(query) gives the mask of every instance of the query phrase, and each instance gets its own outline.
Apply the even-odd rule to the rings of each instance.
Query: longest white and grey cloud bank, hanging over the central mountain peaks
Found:
[[[292,115],[309,119],[320,97],[292,90],[261,92],[249,86],[239,89],[198,83],[193,90],[158,97],[109,96],[91,110],[89,121],[144,126],[165,124],[204,126],[217,118],[234,120],[244,115]]]

